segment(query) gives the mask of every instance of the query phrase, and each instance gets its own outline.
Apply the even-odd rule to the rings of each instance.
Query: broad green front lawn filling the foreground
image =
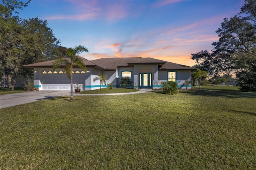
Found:
[[[256,169],[256,95],[56,97],[0,110],[0,169]]]

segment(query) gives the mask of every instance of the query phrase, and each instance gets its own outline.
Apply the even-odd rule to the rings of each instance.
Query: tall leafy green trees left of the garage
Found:
[[[0,3],[0,77],[6,77],[6,86],[13,90],[17,74],[32,78],[31,69],[20,66],[48,61],[64,56],[66,47],[47,27],[46,20],[17,16],[18,10],[28,6],[30,0],[1,0]],[[7,78],[8,77],[8,78]]]

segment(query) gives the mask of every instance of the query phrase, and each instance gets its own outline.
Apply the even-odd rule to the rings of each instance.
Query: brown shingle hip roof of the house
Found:
[[[81,57],[82,58],[82,57]],[[85,58],[82,58],[86,67],[94,67],[100,70],[115,70],[117,67],[133,67],[134,65],[146,64],[146,65],[158,65],[159,70],[196,70],[196,67],[189,67],[186,65],[171,63],[168,61],[163,61],[160,59],[154,58],[142,58],[142,57],[134,57],[134,58],[101,58],[89,61]],[[52,67],[51,61],[44,61],[40,63],[33,63],[28,65],[23,65],[25,68],[35,68],[35,67]]]

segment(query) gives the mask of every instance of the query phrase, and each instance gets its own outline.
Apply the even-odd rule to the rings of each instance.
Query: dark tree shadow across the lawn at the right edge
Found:
[[[241,91],[228,91],[228,90],[188,90],[180,91],[189,95],[209,96],[209,97],[228,97],[228,98],[256,98],[256,93],[241,92]]]

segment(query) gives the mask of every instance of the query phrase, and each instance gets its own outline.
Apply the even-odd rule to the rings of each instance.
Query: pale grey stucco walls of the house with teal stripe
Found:
[[[46,71],[46,74],[43,74],[43,71]],[[48,73],[52,71],[52,73]],[[54,74],[52,68],[35,68],[34,69],[34,83],[35,87],[38,87],[39,90],[43,89],[63,89],[70,90],[70,79],[64,73],[64,69],[57,69],[58,73]],[[62,71],[63,73],[59,73]],[[100,88],[100,81],[93,82],[94,77],[98,77],[99,73],[106,75],[106,85],[101,85],[101,87],[108,87],[108,83],[112,83],[114,87],[119,87],[120,78],[122,71],[132,71],[132,81],[133,85],[139,85],[139,74],[140,73],[152,73],[152,88],[160,88],[162,81],[167,81],[167,73],[171,70],[158,70],[158,65],[134,65],[134,67],[118,67],[116,71],[100,71],[94,68],[87,68],[86,73],[81,73],[81,69],[73,69],[73,83],[82,84],[83,90],[94,90]],[[76,73],[79,71],[79,73]],[[191,71],[190,70],[172,70],[176,71],[176,82],[178,83],[179,88],[186,88],[185,81],[191,80]],[[133,88],[133,85],[130,85],[128,88]],[[191,88],[191,85],[188,87]]]

